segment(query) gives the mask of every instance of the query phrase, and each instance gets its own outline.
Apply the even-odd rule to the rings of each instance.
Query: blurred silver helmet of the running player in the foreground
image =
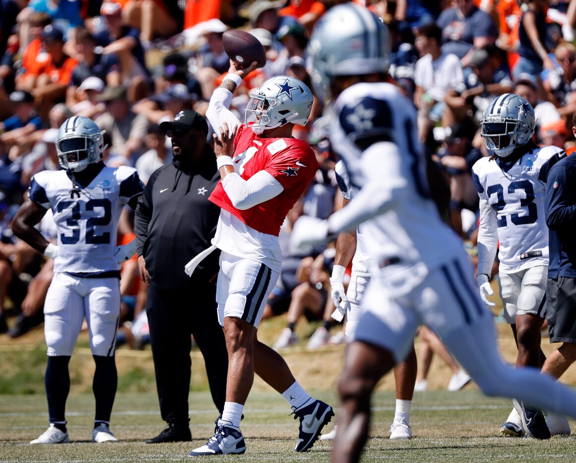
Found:
[[[328,10],[314,26],[306,48],[306,70],[316,95],[330,99],[338,75],[388,70],[390,36],[384,23],[365,7],[344,3]]]

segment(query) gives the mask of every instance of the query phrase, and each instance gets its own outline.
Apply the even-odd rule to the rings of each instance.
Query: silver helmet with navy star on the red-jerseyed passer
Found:
[[[252,93],[245,110],[246,124],[256,134],[287,123],[305,126],[312,109],[312,92],[295,77],[276,75]]]

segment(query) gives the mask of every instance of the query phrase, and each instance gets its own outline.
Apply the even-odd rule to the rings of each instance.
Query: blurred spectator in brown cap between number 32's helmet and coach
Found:
[[[122,155],[134,165],[135,158],[142,153],[148,126],[146,117],[130,109],[123,86],[107,87],[97,100],[106,104],[106,112],[95,122],[112,137],[111,154]]]

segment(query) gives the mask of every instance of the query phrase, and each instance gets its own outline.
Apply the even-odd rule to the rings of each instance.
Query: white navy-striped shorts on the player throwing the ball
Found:
[[[279,272],[260,262],[222,251],[216,284],[220,324],[224,326],[224,317],[236,317],[258,328],[279,276]]]

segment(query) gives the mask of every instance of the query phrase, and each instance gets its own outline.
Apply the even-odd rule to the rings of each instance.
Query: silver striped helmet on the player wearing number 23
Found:
[[[505,93],[484,112],[482,136],[486,146],[502,158],[530,141],[536,127],[534,109],[521,96]]]

